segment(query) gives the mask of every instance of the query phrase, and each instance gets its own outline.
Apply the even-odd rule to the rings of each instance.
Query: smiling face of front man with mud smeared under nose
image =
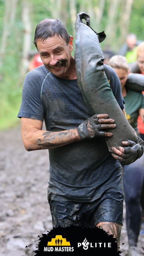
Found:
[[[37,39],[37,49],[44,66],[56,76],[63,77],[69,72],[73,41],[69,44],[57,35],[48,37],[44,41]]]

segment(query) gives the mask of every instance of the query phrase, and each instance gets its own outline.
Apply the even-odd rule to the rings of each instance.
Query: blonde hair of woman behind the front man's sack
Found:
[[[108,65],[111,66],[112,68],[117,68],[117,69],[122,68],[126,72],[130,70],[126,57],[121,55],[114,55],[112,58],[110,58]]]

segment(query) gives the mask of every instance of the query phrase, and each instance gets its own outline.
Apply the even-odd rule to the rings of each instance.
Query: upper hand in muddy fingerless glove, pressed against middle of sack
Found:
[[[111,137],[113,134],[104,132],[103,129],[115,128],[114,119],[107,119],[107,114],[95,114],[87,118],[82,124],[78,126],[78,135],[80,139],[94,138],[94,137]]]

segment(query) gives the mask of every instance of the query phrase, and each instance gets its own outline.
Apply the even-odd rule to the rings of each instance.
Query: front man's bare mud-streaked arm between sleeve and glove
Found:
[[[62,132],[42,131],[43,121],[21,117],[21,137],[27,151],[57,148],[81,140],[77,128]]]

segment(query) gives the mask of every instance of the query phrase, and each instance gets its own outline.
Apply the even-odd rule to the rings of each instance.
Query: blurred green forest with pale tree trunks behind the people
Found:
[[[83,11],[96,32],[105,29],[102,50],[109,47],[117,54],[128,33],[144,41],[143,0],[0,0],[0,130],[20,124],[17,114],[29,54],[36,51],[36,25],[58,18],[75,40],[76,14]]]

